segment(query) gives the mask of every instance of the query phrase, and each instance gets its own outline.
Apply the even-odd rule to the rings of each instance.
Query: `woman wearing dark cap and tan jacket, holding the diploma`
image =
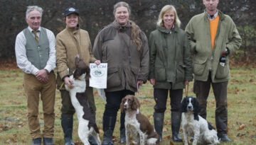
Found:
[[[74,144],[72,141],[73,134],[73,115],[75,108],[70,100],[69,92],[65,90],[65,86],[72,88],[72,80],[69,78],[75,69],[75,56],[83,59],[86,64],[94,62],[100,64],[92,54],[92,45],[89,34],[86,30],[82,30],[78,24],[78,10],[76,8],[67,8],[64,13],[64,21],[66,28],[56,36],[56,64],[57,64],[57,88],[61,95],[61,126],[63,127],[65,145]],[[92,88],[86,80],[86,91],[90,110],[95,117],[96,107],[93,98]],[[89,137],[91,144],[96,144],[93,137]]]

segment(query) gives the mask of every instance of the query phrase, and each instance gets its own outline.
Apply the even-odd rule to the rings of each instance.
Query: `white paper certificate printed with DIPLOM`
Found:
[[[90,83],[94,88],[107,88],[107,63],[90,63]]]

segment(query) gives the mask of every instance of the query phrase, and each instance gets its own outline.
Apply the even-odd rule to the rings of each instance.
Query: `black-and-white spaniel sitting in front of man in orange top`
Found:
[[[215,129],[203,117],[198,115],[200,109],[198,100],[193,97],[186,97],[181,103],[185,145],[188,145],[188,136],[193,137],[193,145],[220,144]]]

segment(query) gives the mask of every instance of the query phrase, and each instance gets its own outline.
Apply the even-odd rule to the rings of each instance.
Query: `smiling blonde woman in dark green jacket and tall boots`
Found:
[[[193,79],[191,50],[186,33],[179,28],[180,25],[174,6],[166,5],[161,9],[156,30],[149,36],[149,81],[154,86],[154,127],[160,140],[169,92],[172,139],[182,141],[178,134],[181,124],[179,109],[184,84]]]

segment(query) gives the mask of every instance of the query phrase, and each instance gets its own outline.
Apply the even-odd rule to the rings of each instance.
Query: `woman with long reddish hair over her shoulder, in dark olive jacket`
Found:
[[[93,53],[107,63],[107,104],[103,115],[102,145],[111,145],[117,112],[125,95],[134,95],[149,74],[149,46],[146,35],[133,21],[129,4],[114,5],[115,20],[97,34]],[[125,143],[125,113],[120,115],[120,142]]]

